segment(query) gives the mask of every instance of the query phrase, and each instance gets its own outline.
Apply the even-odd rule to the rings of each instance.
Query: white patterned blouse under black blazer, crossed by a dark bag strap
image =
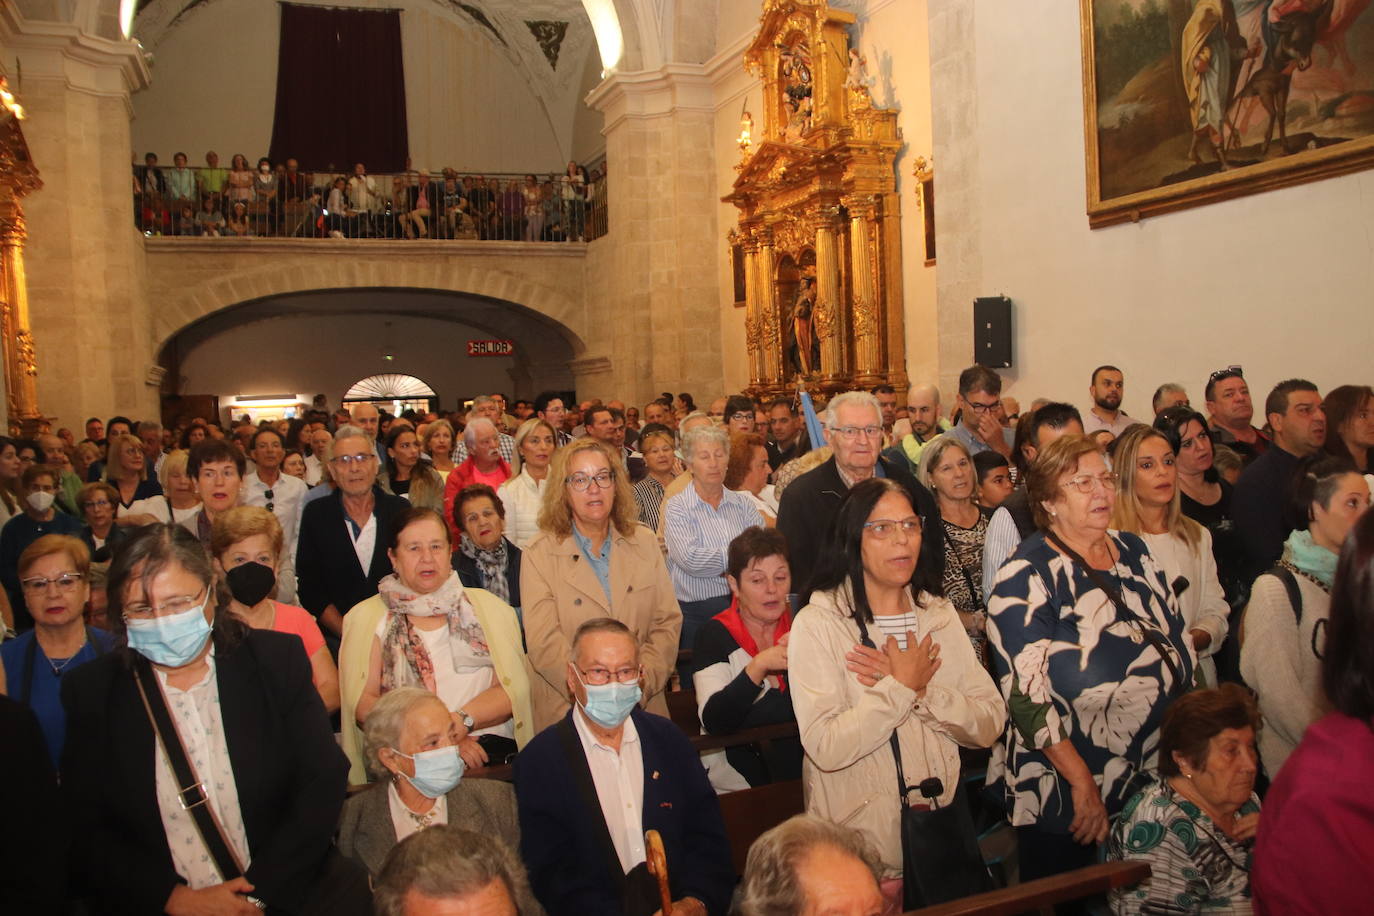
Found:
[[[229,762],[229,746],[224,737],[224,720],[220,715],[220,684],[214,677],[214,650],[206,656],[209,673],[191,689],[180,691],[168,685],[166,674],[153,669],[166,696],[168,713],[181,735],[187,759],[196,777],[205,786],[224,835],[229,840],[243,869],[247,871],[247,831],[243,828],[243,812],[239,809],[239,788],[234,781],[234,766]],[[181,808],[177,798],[177,779],[162,743],[157,744],[157,797],[162,813],[162,829],[172,850],[172,865],[176,873],[185,879],[191,890],[223,884],[224,878],[210,857],[210,850],[201,839],[191,813]]]

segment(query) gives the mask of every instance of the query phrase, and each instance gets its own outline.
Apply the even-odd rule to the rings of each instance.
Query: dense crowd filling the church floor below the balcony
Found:
[[[1000,824],[1022,882],[1147,862],[1116,913],[1355,912],[1374,390],[1124,386],[0,438],[0,895],[878,916]],[[798,779],[741,879],[720,795]]]

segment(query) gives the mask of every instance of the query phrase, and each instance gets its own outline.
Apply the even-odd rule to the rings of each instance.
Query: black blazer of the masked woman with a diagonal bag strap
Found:
[[[62,678],[67,744],[62,791],[78,884],[100,913],[161,913],[176,884],[158,810],[153,726],[128,652]],[[249,630],[216,645],[220,714],[253,858],[253,895],[297,913],[330,850],[348,759],[330,729],[301,640]]]

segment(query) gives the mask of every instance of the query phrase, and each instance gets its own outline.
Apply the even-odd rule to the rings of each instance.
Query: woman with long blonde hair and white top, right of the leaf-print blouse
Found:
[[[1216,574],[1212,536],[1183,515],[1173,449],[1162,433],[1138,423],[1116,441],[1112,468],[1118,496],[1110,525],[1139,534],[1150,548],[1179,602],[1200,674],[1208,687],[1216,687],[1212,655],[1227,636],[1231,607]]]

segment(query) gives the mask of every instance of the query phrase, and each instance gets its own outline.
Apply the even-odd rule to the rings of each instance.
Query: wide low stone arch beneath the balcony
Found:
[[[482,258],[482,262],[491,260]],[[150,258],[150,266],[154,266],[151,261]],[[253,261],[267,264],[254,266]],[[539,258],[519,261],[529,264]],[[561,266],[552,258],[548,261],[554,271]],[[150,271],[154,287],[150,291],[154,352],[161,352],[180,331],[202,319],[239,305],[298,293],[372,288],[427,290],[502,301],[561,335],[572,347],[574,358],[585,353],[587,310],[580,295],[574,298],[566,290],[541,283],[533,271],[517,273],[482,262],[458,258],[445,261],[441,257],[387,258],[381,253],[348,253],[337,258],[316,255],[302,262],[298,258],[283,261],[249,254],[242,261],[227,257],[223,268],[206,271],[209,276],[191,283],[176,283],[176,277],[159,276],[154,268]],[[169,262],[169,266],[174,264]],[[207,266],[203,260],[201,266]],[[577,271],[574,276],[580,283],[581,272]],[[567,272],[563,273],[565,282]]]

